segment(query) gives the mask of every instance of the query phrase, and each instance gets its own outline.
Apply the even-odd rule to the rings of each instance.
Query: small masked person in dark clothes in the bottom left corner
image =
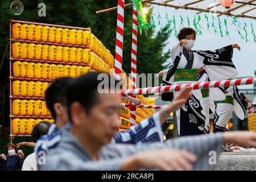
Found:
[[[14,143],[9,143],[6,146],[8,155],[5,158],[7,171],[19,171],[20,160],[24,158],[22,150],[18,150],[16,153],[16,145]]]

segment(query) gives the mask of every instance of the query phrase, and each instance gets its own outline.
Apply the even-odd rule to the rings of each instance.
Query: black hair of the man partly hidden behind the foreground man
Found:
[[[54,119],[56,119],[56,113],[53,105],[59,102],[63,106],[67,106],[67,89],[72,81],[71,77],[58,78],[46,89],[46,105]]]

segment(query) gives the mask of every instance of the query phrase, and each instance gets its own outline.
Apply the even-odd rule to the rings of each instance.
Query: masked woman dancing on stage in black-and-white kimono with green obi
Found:
[[[181,28],[177,34],[177,43],[171,49],[172,64],[167,70],[160,71],[163,85],[187,84],[197,81],[226,80],[237,75],[233,64],[233,48],[241,49],[238,44],[222,47],[213,51],[193,51],[196,31],[193,28]],[[204,93],[207,102],[225,100],[225,90],[213,88]],[[180,136],[209,133],[209,109],[207,113],[201,90],[192,90],[188,102],[176,111],[177,127]],[[171,101],[179,92],[163,93],[162,100]],[[207,94],[207,96],[206,96]],[[205,101],[206,103],[206,101]],[[209,104],[210,105],[210,104]],[[207,115],[206,115],[207,114]]]

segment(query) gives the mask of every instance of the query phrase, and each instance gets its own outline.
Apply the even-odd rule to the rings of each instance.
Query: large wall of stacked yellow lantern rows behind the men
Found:
[[[49,81],[79,77],[91,71],[110,75],[110,69],[114,68],[114,56],[90,28],[13,23],[11,31],[11,126],[14,135],[31,134],[40,121],[53,122],[43,99]],[[123,121],[129,121],[129,112],[123,107],[122,115],[126,119]]]

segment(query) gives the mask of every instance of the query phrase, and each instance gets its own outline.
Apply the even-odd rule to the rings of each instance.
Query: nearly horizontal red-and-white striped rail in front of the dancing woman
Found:
[[[123,95],[137,96],[137,95],[144,95],[144,94],[176,92],[185,88],[185,86],[190,86],[192,90],[197,90],[197,89],[219,88],[219,87],[228,87],[228,86],[250,85],[250,84],[256,84],[256,77],[240,78],[240,79],[234,79],[234,80],[195,82],[195,83],[180,84],[180,85],[155,86],[151,88],[128,89],[123,93]]]

